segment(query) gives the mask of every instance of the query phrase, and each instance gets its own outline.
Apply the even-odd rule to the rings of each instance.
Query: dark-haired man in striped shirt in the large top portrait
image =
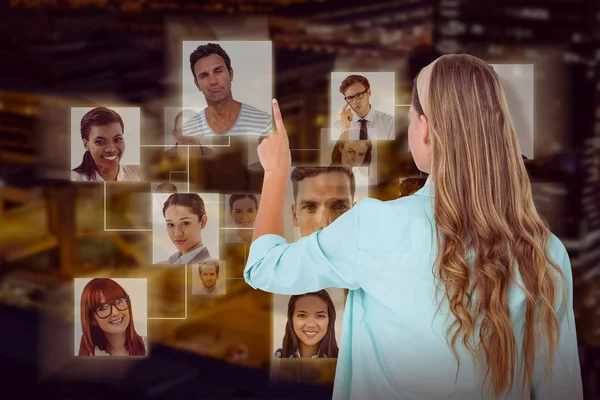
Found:
[[[271,132],[271,115],[233,99],[231,59],[220,45],[198,46],[190,55],[194,83],[207,107],[183,126],[185,136],[257,136]]]

